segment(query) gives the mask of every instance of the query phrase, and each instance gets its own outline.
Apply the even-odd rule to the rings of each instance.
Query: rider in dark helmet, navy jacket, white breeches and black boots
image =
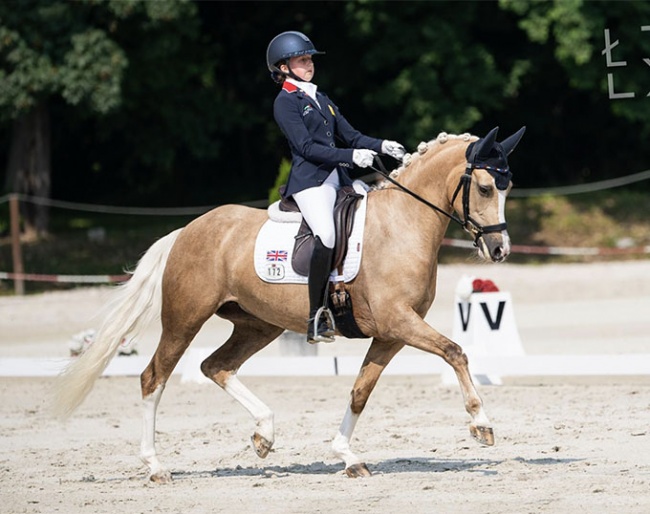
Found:
[[[347,172],[353,165],[367,168],[377,153],[402,159],[404,147],[395,141],[360,133],[339,108],[317,90],[312,55],[322,54],[301,32],[277,35],[266,50],[273,80],[282,85],[273,115],[289,140],[292,164],[284,196],[293,196],[314,234],[309,268],[309,322],[307,341],[334,341],[333,327],[323,317],[325,294],[334,253],[334,202],[342,186],[351,185]],[[341,147],[337,143],[343,143]]]

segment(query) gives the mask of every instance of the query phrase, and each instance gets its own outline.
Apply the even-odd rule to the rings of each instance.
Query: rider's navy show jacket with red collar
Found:
[[[365,136],[343,117],[329,97],[316,92],[320,108],[304,91],[285,82],[273,104],[273,115],[289,140],[291,172],[284,196],[321,185],[336,169],[342,186],[352,180],[352,151],[367,148],[381,153],[382,139]],[[339,140],[346,148],[338,148]]]

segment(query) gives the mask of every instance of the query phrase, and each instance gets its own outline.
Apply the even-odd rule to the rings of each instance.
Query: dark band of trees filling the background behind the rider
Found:
[[[614,178],[648,168],[648,25],[646,2],[4,2],[0,162],[33,100],[51,116],[53,198],[266,198],[288,148],[273,121],[265,50],[279,32],[299,30],[327,52],[315,82],[362,132],[413,149],[441,131],[499,126],[505,137],[526,125],[511,160],[516,186]],[[606,28],[625,67],[606,66]],[[71,53],[78,34],[97,39]],[[9,80],[27,62],[11,53],[18,38],[53,64]],[[610,99],[608,73],[635,97]],[[118,91],[102,89],[111,77]]]

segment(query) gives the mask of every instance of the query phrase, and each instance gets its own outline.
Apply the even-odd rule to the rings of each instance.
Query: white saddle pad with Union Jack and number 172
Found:
[[[363,231],[366,223],[367,193],[359,181],[354,190],[363,195],[354,218],[348,239],[348,253],[343,263],[343,275],[332,271],[331,280],[349,282],[359,273],[363,250]],[[279,202],[269,206],[269,219],[262,225],[255,241],[255,272],[265,282],[276,284],[306,284],[307,277],[297,274],[291,267],[295,237],[300,228],[300,213],[282,212]]]

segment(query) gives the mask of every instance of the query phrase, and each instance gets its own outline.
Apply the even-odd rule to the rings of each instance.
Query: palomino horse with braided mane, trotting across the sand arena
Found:
[[[507,257],[507,155],[523,130],[501,143],[496,142],[497,129],[483,139],[443,133],[405,159],[408,166],[392,174],[394,184],[368,194],[364,255],[348,288],[357,325],[372,342],[332,443],[351,477],[370,475],[350,449],[352,432],[382,371],[405,345],[439,355],[454,369],[471,416],[471,435],[479,443],[494,444],[467,357],[423,317],[435,296],[438,250],[450,218],[473,235],[483,258],[501,262]],[[233,332],[203,361],[201,371],[252,415],[253,447],[266,457],[274,442],[273,413],[239,381],[237,371],[285,329],[304,333],[308,317],[306,286],[266,283],[253,270],[255,236],[266,219],[265,210],[225,205],[154,243],[131,279],[117,288],[93,346],[59,378],[55,412],[70,415],[122,339],[137,336],[160,314],[160,342],[141,375],[140,456],[152,481],[170,481],[171,473],[156,454],[157,406],[179,359],[216,313],[233,323]]]

